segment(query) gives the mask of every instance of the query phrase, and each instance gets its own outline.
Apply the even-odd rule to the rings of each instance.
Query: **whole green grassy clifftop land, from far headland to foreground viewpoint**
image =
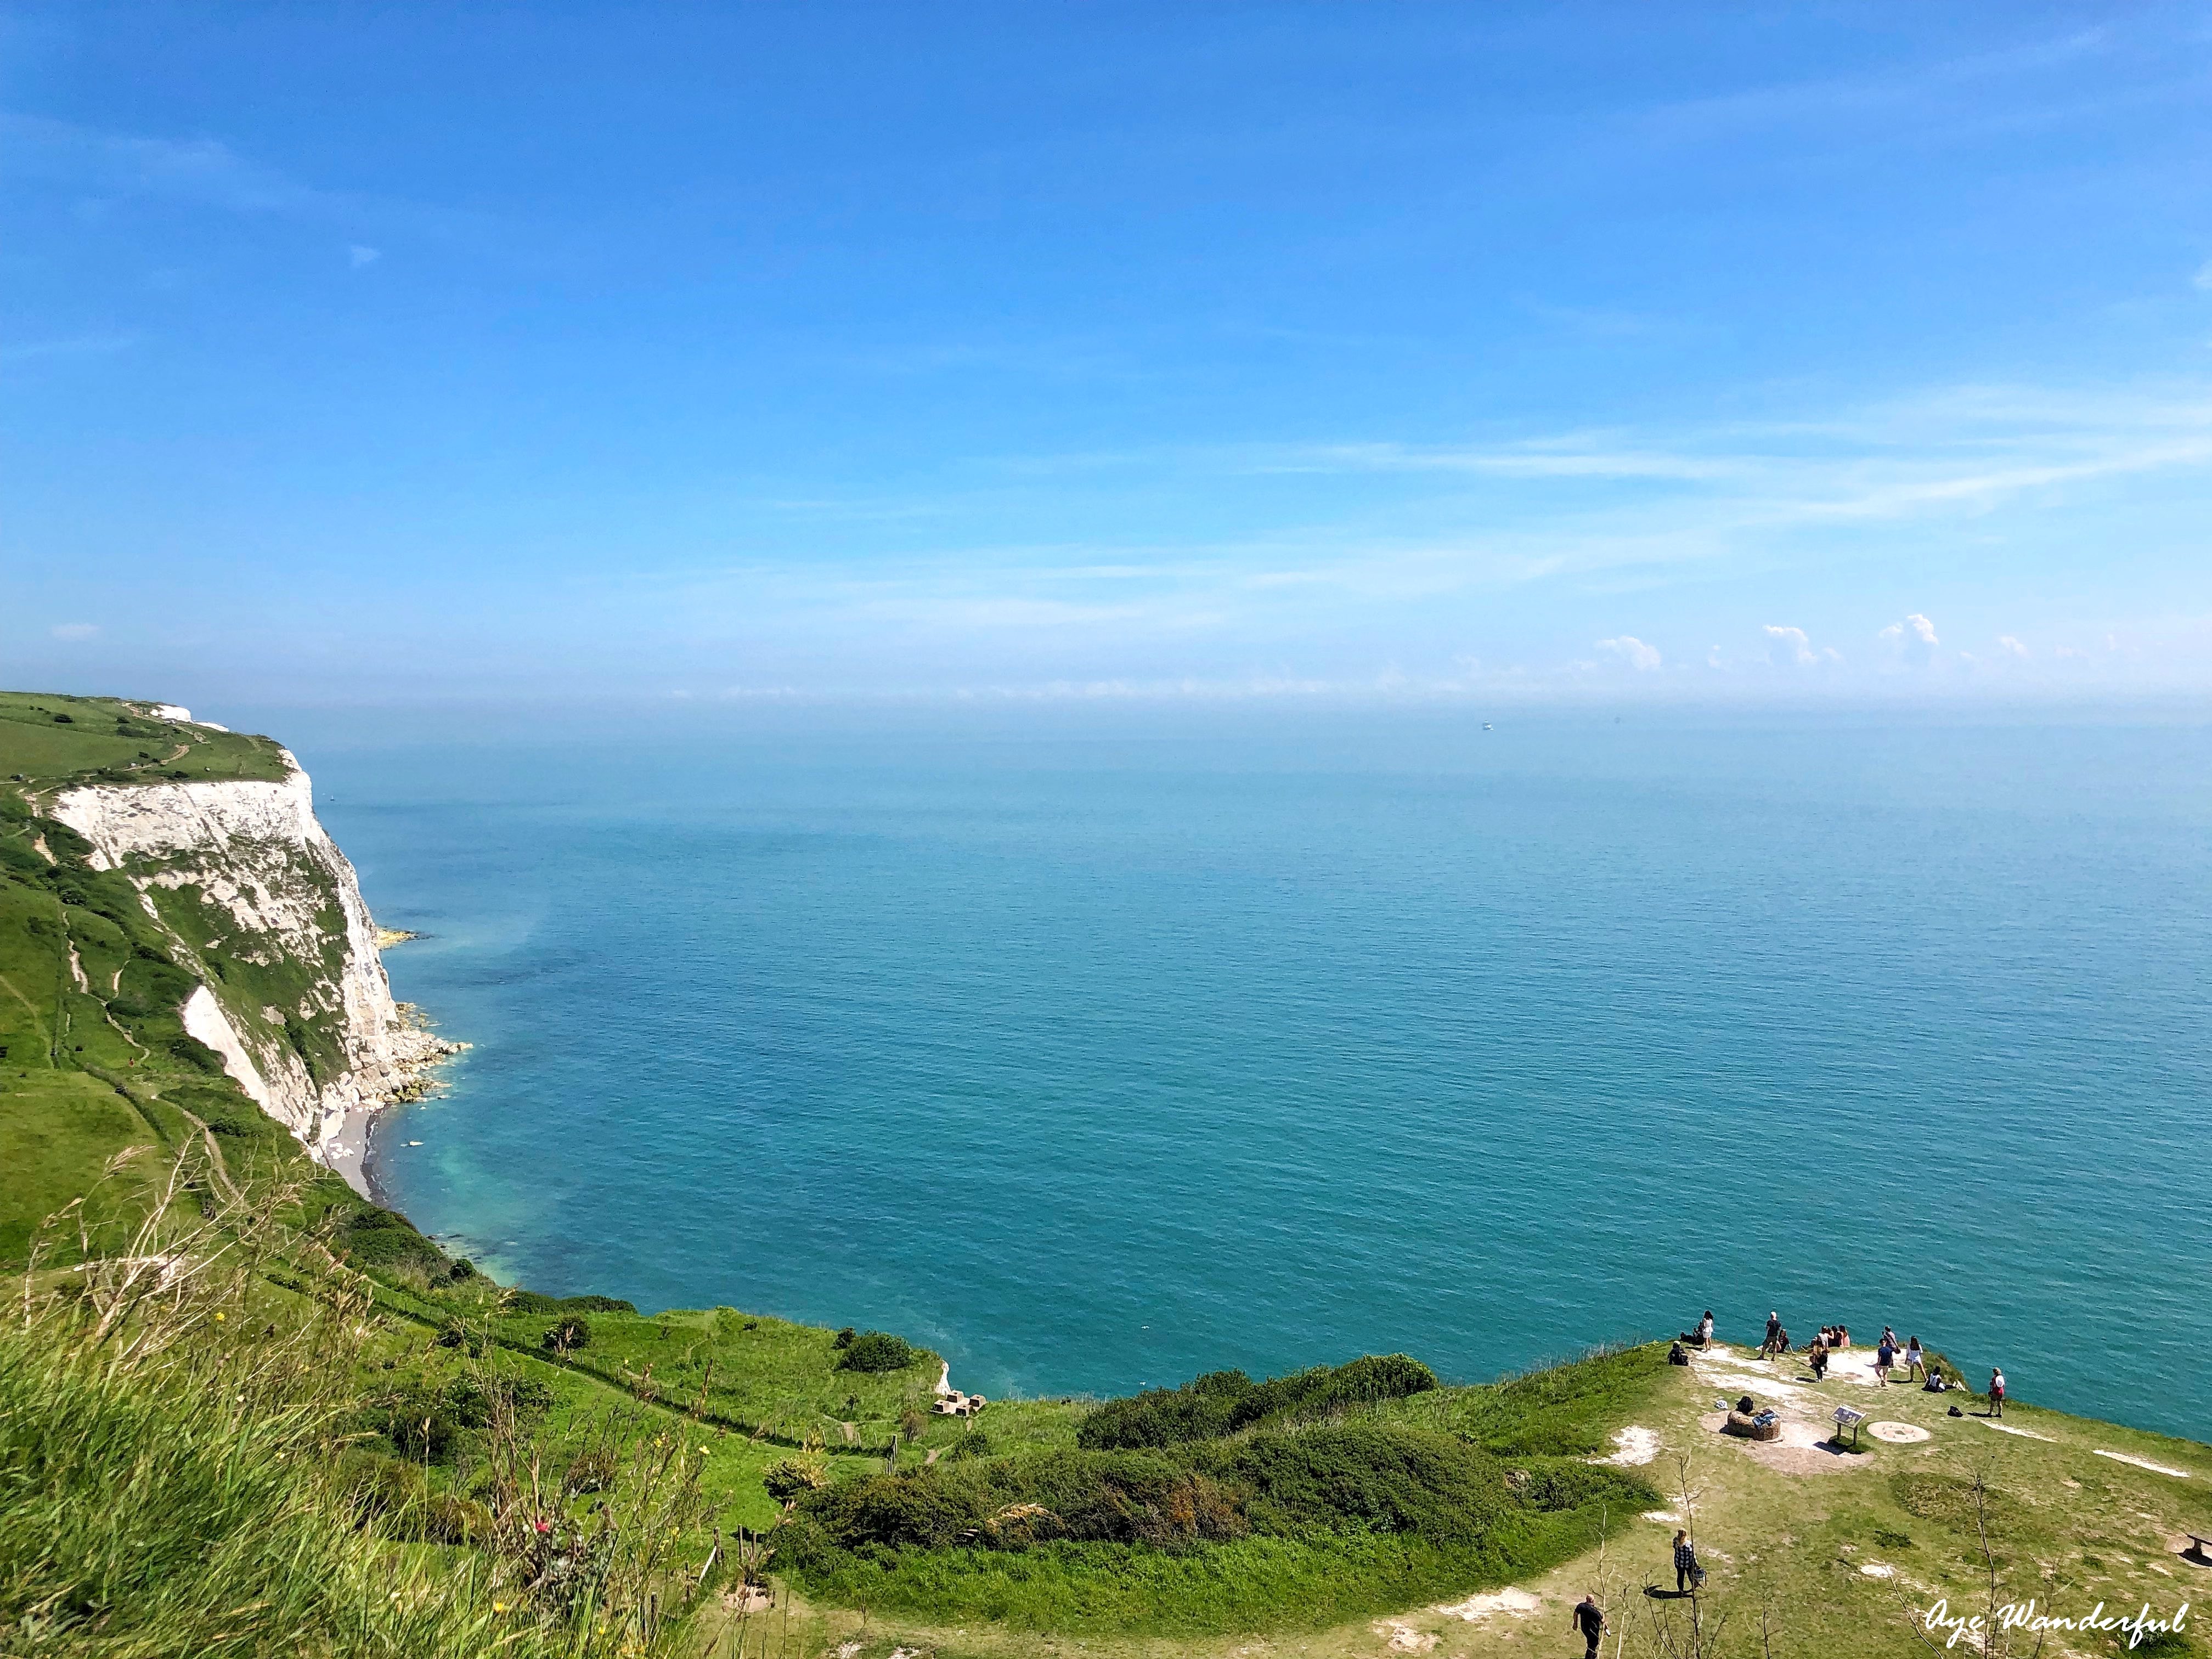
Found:
[[[896,1336],[493,1285],[254,1106],[179,1020],[248,967],[228,933],[51,816],[133,787],[108,774],[281,772],[148,708],[0,699],[0,1655],[1504,1657],[1573,1644],[1595,1590],[1613,1659],[1809,1659],[1927,1652],[1938,1604],[2212,1588],[2183,1553],[2212,1447],[1997,1422],[1851,1356],[1486,1385],[1378,1356],[964,1420]],[[1745,1391],[1778,1440],[1721,1433]],[[2148,1650],[2203,1646],[2183,1619]]]

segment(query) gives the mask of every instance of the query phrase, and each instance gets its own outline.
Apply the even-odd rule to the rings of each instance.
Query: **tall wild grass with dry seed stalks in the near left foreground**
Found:
[[[549,1473],[562,1449],[495,1420],[482,1537],[407,1542],[436,1535],[411,1511],[429,1482],[367,1502],[345,1455],[367,1287],[276,1221],[292,1197],[179,1161],[128,1237],[100,1239],[91,1203],[49,1223],[60,1250],[0,1332],[0,1652],[677,1652],[712,1568],[675,1559],[697,1522],[681,1436],[630,1436],[580,1498]]]

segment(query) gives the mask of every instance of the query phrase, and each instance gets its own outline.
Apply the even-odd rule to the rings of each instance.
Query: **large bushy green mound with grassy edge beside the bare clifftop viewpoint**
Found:
[[[1637,1475],[1506,1464],[1376,1420],[1155,1449],[940,1460],[799,1495],[779,1559],[810,1593],[1060,1630],[1327,1624],[1544,1571]]]

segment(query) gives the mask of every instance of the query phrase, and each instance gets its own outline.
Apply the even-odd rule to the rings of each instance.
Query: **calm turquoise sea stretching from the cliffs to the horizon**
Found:
[[[1778,1307],[2212,1431],[2201,710],[1493,719],[270,723],[502,1279],[993,1396]]]

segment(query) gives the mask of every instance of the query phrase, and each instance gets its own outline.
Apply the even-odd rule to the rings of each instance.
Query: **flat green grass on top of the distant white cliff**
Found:
[[[119,697],[0,692],[0,781],[283,781],[283,757],[270,739],[155,719],[150,708]]]

